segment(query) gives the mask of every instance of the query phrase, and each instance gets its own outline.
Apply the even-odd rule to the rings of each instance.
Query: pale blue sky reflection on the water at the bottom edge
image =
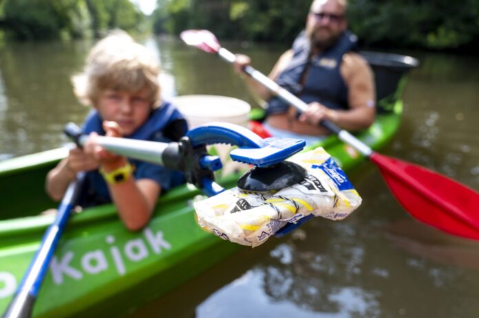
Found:
[[[317,295],[317,289],[310,287],[308,293],[317,296],[316,302],[330,305],[324,311],[312,310],[304,302],[294,302],[290,299],[276,299],[268,295],[264,284],[265,276],[275,276],[277,270],[270,267],[269,271],[253,269],[231,284],[211,295],[206,302],[198,306],[196,317],[319,317],[319,318],[342,318],[351,317],[376,317],[378,304],[374,296],[364,293],[360,288],[345,287],[338,289],[335,293]],[[292,279],[284,280],[284,277],[277,277],[281,288],[288,289]],[[235,299],[232,301],[232,299]],[[228,304],[228,306],[222,306]],[[246,306],[245,306],[246,305]]]

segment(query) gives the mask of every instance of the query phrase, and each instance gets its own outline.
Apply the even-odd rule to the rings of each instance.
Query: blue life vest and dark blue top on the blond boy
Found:
[[[96,132],[98,135],[105,135],[103,130],[103,119],[98,111],[91,111],[83,123],[82,129],[86,134]],[[188,125],[182,114],[173,104],[163,102],[158,109],[153,109],[147,121],[142,124],[134,133],[124,136],[129,139],[171,142],[178,141],[187,133]],[[175,185],[184,183],[182,172],[173,171],[153,163],[129,159],[135,167],[135,179],[153,179],[160,186],[162,191],[169,190]],[[98,170],[87,172],[81,203],[83,207],[111,202],[107,183]]]

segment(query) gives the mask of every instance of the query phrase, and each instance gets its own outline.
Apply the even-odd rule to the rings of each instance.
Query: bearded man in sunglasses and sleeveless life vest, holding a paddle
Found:
[[[346,130],[368,128],[376,113],[372,70],[356,52],[357,38],[348,31],[345,0],[315,0],[306,18],[306,29],[291,49],[281,55],[269,78],[308,104],[298,114],[268,89],[244,77],[251,91],[267,101],[264,127],[276,137],[293,137],[315,144],[328,132],[319,125],[329,120]],[[251,64],[237,55],[235,70]]]

